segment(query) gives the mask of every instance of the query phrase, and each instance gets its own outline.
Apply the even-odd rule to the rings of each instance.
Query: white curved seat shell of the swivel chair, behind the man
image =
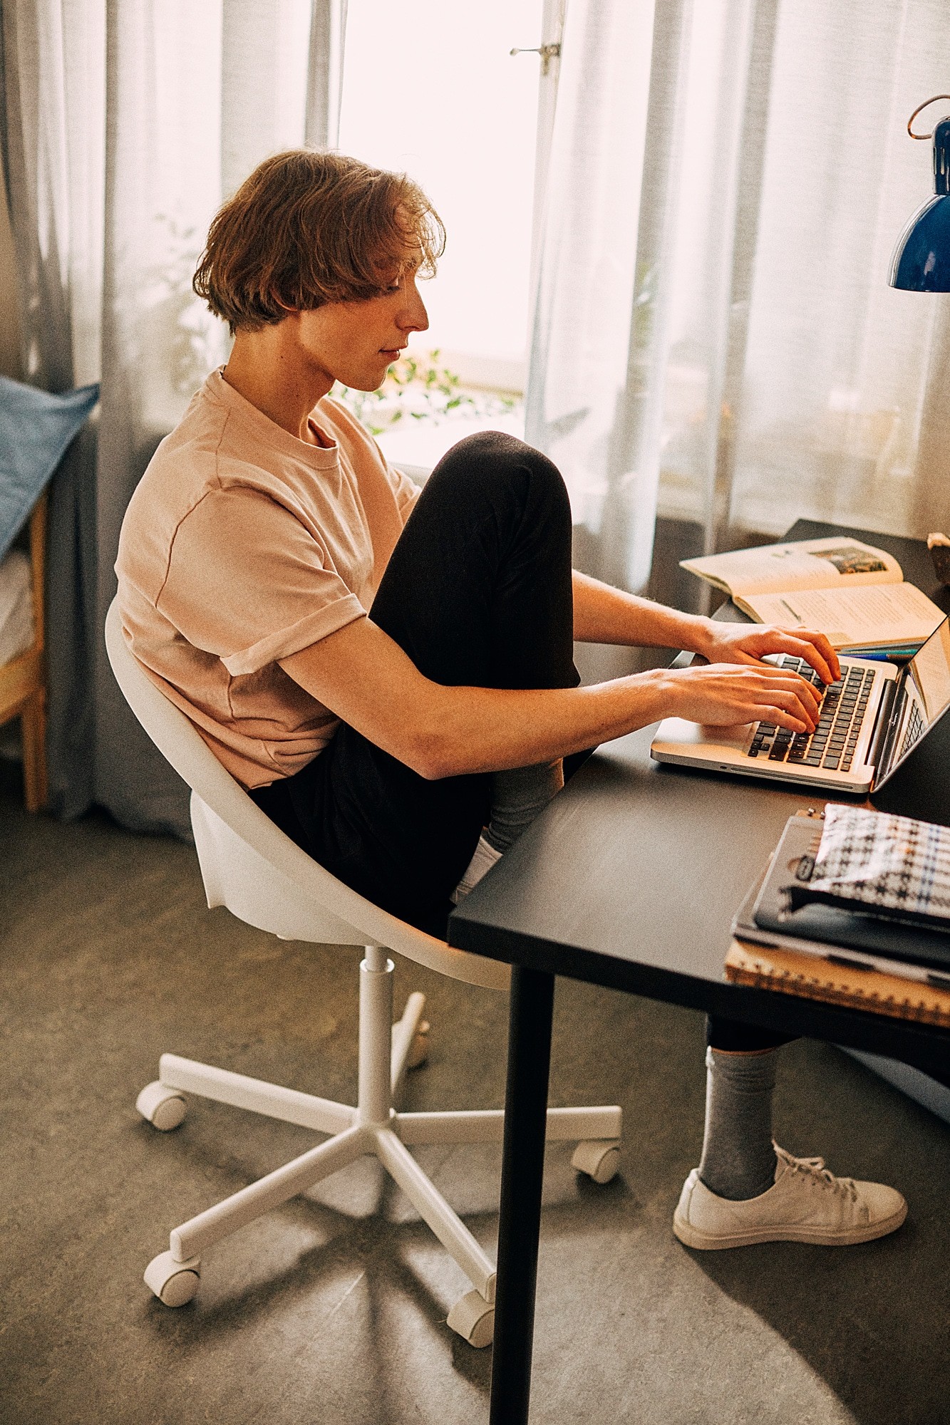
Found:
[[[287,940],[382,945],[441,975],[506,989],[509,969],[455,950],[351,891],[285,836],[133,657],[113,600],[106,648],[116,681],[163,757],[191,788],[191,825],[208,905]]]

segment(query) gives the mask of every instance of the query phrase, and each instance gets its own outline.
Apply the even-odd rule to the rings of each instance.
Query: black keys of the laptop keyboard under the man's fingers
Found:
[[[874,668],[852,667],[837,683],[822,683],[814,668],[803,658],[783,657],[780,668],[799,673],[816,688],[824,688],[814,732],[790,732],[775,722],[759,722],[752,738],[749,757],[770,762],[795,762],[802,767],[826,767],[832,772],[849,772],[860,735]]]

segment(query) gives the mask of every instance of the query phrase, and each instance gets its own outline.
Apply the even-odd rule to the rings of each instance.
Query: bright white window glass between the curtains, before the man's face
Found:
[[[523,369],[542,0],[349,0],[339,144],[405,170],[448,242],[424,289],[441,348]],[[499,385],[504,385],[504,378]]]

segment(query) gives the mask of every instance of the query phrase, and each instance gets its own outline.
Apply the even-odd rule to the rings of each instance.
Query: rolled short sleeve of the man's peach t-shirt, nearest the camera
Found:
[[[210,492],[181,520],[155,607],[234,677],[365,616],[317,532],[244,487]]]

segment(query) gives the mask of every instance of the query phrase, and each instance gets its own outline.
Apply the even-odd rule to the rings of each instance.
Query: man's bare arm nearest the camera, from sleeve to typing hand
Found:
[[[709,724],[766,718],[812,730],[817,694],[762,667],[656,668],[588,688],[444,687],[369,618],[280,660],[337,717],[421,777],[552,761],[668,714]]]

